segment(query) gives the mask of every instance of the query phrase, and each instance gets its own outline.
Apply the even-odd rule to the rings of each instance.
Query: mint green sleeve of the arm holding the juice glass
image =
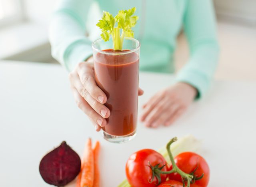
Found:
[[[85,22],[91,0],[60,0],[50,22],[52,56],[68,71],[92,55],[85,36]]]

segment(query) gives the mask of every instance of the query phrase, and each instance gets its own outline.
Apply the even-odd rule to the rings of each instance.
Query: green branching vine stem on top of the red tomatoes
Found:
[[[179,173],[181,175],[182,178],[186,178],[188,180],[188,184],[187,184],[187,187],[190,187],[190,182],[191,180],[193,179],[193,175],[190,175],[188,173],[185,173],[183,172],[180,168],[178,168],[178,166],[176,165],[175,161],[174,161],[174,158],[172,156],[172,152],[171,152],[171,149],[170,149],[170,146],[171,144],[174,142],[174,141],[177,141],[177,137],[174,137],[172,138],[166,145],[166,149],[167,149],[167,152],[168,152],[168,155],[170,157],[170,161],[172,163],[172,170],[170,171],[161,171],[159,169],[155,169],[155,172],[156,173],[161,173],[161,174],[170,174],[170,173]]]

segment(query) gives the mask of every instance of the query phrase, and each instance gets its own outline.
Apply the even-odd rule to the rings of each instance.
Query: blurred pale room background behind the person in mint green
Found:
[[[58,63],[50,53],[48,23],[57,0],[0,0],[0,59]],[[214,0],[221,54],[216,79],[256,80],[256,0]],[[92,4],[88,32],[101,17]],[[97,29],[98,30],[98,29]],[[99,30],[98,30],[99,31]],[[94,40],[99,33],[93,32]],[[184,34],[178,37],[175,63],[188,58]]]

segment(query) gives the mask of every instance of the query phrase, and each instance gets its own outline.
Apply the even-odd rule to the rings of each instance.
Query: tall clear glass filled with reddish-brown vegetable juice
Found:
[[[114,51],[112,38],[92,43],[94,74],[97,85],[107,95],[110,109],[103,136],[113,143],[123,143],[136,135],[140,43],[124,38],[123,50]]]

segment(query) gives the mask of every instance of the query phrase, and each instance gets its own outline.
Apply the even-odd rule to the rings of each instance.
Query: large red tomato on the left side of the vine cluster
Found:
[[[162,171],[167,171],[168,166],[164,157],[152,150],[142,149],[133,153],[126,162],[126,178],[131,187],[156,187],[158,180],[154,177],[152,183],[149,183],[152,179],[152,169],[148,165],[148,162],[152,166],[160,164],[159,167],[166,165],[162,168]],[[166,181],[167,175],[160,175],[161,181]]]

